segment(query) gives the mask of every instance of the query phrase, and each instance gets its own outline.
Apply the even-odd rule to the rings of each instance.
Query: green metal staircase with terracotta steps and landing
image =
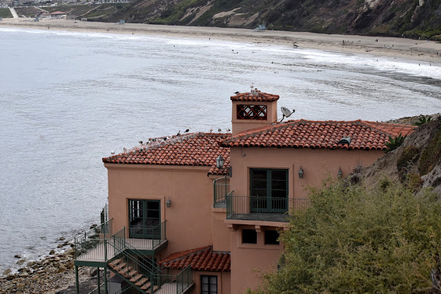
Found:
[[[112,220],[110,219],[109,222]],[[111,234],[102,228],[111,228],[111,224],[101,224],[100,238],[88,238],[88,233],[75,238],[75,271],[78,266],[97,266],[108,268],[132,288],[140,293],[182,294],[193,287],[193,273],[187,266],[180,273],[171,275],[170,268],[160,268],[153,259],[153,254],[133,246],[137,242],[126,238],[126,228]],[[136,240],[135,240],[136,241]],[[157,248],[161,248],[157,246]],[[106,277],[106,276],[105,276]],[[78,280],[77,280],[78,285]],[[105,281],[107,291],[107,281]],[[98,291],[100,291],[98,286]],[[78,293],[77,286],[77,293]]]

